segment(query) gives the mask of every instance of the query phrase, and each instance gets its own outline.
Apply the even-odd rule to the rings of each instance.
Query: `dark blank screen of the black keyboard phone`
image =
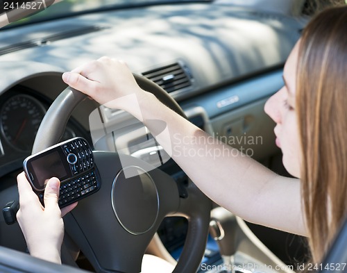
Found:
[[[43,188],[44,185],[51,179],[51,177],[57,177],[62,179],[67,176],[64,165],[58,151],[46,154],[40,158],[31,161],[35,176],[37,177],[37,183]]]

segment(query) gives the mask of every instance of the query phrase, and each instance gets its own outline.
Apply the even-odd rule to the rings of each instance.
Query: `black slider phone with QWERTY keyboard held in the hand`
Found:
[[[41,202],[49,179],[60,180],[60,208],[92,195],[101,187],[92,149],[84,138],[72,138],[28,156],[23,168]]]

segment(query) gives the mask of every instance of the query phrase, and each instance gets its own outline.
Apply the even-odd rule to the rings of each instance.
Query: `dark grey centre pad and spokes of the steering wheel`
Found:
[[[139,272],[160,222],[178,209],[176,182],[160,169],[145,172],[146,163],[131,156],[126,168],[138,175],[128,178],[117,153],[94,152],[94,159],[101,189],[67,215],[67,233],[97,272]]]

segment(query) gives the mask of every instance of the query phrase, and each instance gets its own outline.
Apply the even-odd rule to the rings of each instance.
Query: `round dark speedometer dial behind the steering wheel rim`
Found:
[[[40,101],[31,96],[17,94],[10,97],[1,108],[1,133],[15,149],[31,151],[45,113]]]

